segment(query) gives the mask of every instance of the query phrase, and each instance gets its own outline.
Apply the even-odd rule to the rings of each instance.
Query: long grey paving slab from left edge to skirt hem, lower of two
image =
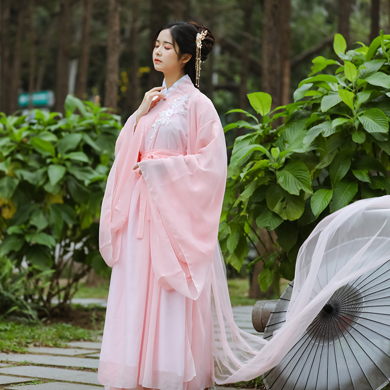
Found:
[[[93,361],[93,359],[89,360]],[[59,381],[72,381],[78,383],[88,383],[91,385],[100,385],[98,382],[98,373],[89,371],[66,370],[39,366],[18,366],[2,368],[0,369],[0,374],[23,375],[31,378],[55,379]],[[3,378],[3,376],[0,375],[0,378]]]

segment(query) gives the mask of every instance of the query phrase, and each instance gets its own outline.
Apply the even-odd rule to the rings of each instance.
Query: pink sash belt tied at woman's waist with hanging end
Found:
[[[184,156],[186,153],[179,150],[168,150],[168,149],[151,149],[140,153],[140,161],[156,158],[167,158],[170,156]],[[147,185],[145,180],[141,180],[141,195],[139,198],[139,220],[137,229],[137,238],[143,238],[143,232],[145,227],[145,220],[150,221],[150,209],[147,209],[148,196],[147,196]],[[148,215],[146,215],[148,210]]]

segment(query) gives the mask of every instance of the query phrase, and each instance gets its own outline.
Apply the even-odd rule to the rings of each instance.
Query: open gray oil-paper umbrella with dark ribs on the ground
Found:
[[[348,254],[343,245],[334,248],[335,256]],[[291,295],[292,283],[264,338],[285,322]],[[389,378],[390,260],[334,292],[284,359],[263,376],[271,390],[377,390]]]

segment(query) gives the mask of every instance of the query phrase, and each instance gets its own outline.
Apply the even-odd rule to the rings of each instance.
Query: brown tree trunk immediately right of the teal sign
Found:
[[[59,21],[59,49],[57,57],[56,111],[64,113],[64,102],[69,88],[69,49],[71,39],[70,0],[61,0]]]

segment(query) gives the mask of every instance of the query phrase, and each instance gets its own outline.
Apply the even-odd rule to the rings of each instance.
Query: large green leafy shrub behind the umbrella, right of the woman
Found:
[[[313,59],[293,103],[270,112],[270,95],[249,94],[261,121],[245,112],[248,121],[225,127],[249,133],[234,142],[221,247],[240,269],[258,230],[275,231],[276,252],[259,253],[250,264],[264,262],[263,291],[293,278],[297,252],[321,219],[357,199],[390,194],[390,35],[359,46],[346,52],[337,34],[338,59]],[[279,117],[284,124],[276,127]]]

